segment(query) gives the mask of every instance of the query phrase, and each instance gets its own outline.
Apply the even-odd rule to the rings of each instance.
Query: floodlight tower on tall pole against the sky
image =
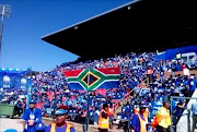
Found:
[[[0,67],[1,67],[1,44],[2,44],[2,31],[3,31],[3,22],[4,17],[10,17],[11,7],[8,4],[0,4],[0,16],[1,16],[1,25],[0,25]]]

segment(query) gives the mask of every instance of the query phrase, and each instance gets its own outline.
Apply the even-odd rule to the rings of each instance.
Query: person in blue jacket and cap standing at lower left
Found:
[[[35,125],[42,121],[42,111],[40,109],[35,107],[36,101],[30,101],[30,108],[25,109],[20,123],[23,123],[24,131],[35,132]],[[27,128],[25,129],[25,124],[27,123]]]

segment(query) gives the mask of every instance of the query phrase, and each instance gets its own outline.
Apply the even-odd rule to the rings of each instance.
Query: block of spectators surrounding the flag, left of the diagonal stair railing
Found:
[[[38,107],[43,109],[45,115],[50,115],[53,109],[58,106],[68,106],[70,118],[79,119],[80,115],[86,109],[88,96],[85,91],[69,89],[65,70],[79,70],[89,68],[116,68],[120,67],[120,84],[119,87],[113,89],[96,89],[91,92],[90,113],[93,120],[93,111],[100,109],[103,103],[117,103],[129,93],[135,86],[139,85],[146,79],[146,69],[148,65],[154,64],[155,53],[128,53],[124,57],[101,59],[80,63],[63,63],[53,71],[40,72],[33,79],[33,99],[36,99]],[[57,104],[57,105],[56,105]]]

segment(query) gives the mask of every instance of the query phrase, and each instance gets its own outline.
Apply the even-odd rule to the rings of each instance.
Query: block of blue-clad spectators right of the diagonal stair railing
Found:
[[[160,61],[157,67],[151,69],[153,71],[149,76],[149,86],[147,88],[136,88],[131,99],[121,107],[118,119],[125,131],[129,129],[131,117],[136,109],[139,109],[141,103],[148,106],[149,123],[152,122],[155,112],[165,100],[172,103],[172,122],[175,125],[183,111],[187,109],[188,100],[181,98],[171,101],[171,96],[192,97],[196,89],[196,75],[190,74],[188,65],[181,59],[167,60],[166,63]],[[181,74],[181,71],[183,71],[183,74]],[[166,73],[169,73],[169,76],[164,75]]]

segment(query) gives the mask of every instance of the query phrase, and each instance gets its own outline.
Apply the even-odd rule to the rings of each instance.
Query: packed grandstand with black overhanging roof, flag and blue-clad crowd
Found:
[[[55,109],[66,108],[69,121],[84,123],[81,116],[88,109],[86,91],[91,87],[92,128],[96,128],[97,111],[105,103],[115,108],[112,119],[117,129],[128,132],[139,104],[148,106],[151,125],[163,101],[178,96],[183,98],[171,100],[171,111],[175,115],[172,130],[177,130],[185,110],[177,106],[184,103],[187,107],[189,100],[184,97],[194,97],[196,91],[194,5],[194,1],[136,0],[42,37],[80,57],[31,76],[32,99],[43,117],[51,118]],[[114,82],[109,82],[111,77]],[[109,84],[105,84],[107,79]],[[9,95],[10,91],[14,94]],[[26,98],[20,98],[13,88],[2,91],[1,97],[4,104],[15,105],[16,117],[26,108]],[[83,131],[82,127],[77,131]],[[148,131],[152,131],[150,127]]]

